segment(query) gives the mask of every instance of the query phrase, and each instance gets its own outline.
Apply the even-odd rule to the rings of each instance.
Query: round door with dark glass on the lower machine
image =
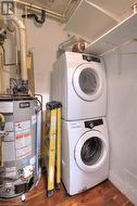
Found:
[[[107,159],[108,145],[101,132],[92,130],[84,133],[75,147],[76,164],[87,172],[98,170]]]

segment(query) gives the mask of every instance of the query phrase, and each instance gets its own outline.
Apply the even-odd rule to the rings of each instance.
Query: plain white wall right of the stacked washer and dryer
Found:
[[[105,55],[110,180],[137,205],[137,43]]]

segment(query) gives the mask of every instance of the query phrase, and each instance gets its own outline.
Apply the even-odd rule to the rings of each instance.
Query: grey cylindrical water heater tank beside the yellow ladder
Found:
[[[27,192],[37,182],[37,100],[0,98],[0,197],[10,198]]]

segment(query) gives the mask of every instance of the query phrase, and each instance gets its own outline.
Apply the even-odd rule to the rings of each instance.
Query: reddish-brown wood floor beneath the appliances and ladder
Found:
[[[109,180],[82,194],[68,197],[62,185],[61,191],[52,197],[47,197],[45,178],[33,191],[27,193],[26,202],[21,197],[11,201],[0,201],[0,206],[134,206]]]

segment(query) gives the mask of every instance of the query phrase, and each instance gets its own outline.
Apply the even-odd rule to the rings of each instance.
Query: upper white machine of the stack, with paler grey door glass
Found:
[[[52,100],[63,104],[62,118],[105,116],[107,79],[102,59],[65,52],[53,65]]]

